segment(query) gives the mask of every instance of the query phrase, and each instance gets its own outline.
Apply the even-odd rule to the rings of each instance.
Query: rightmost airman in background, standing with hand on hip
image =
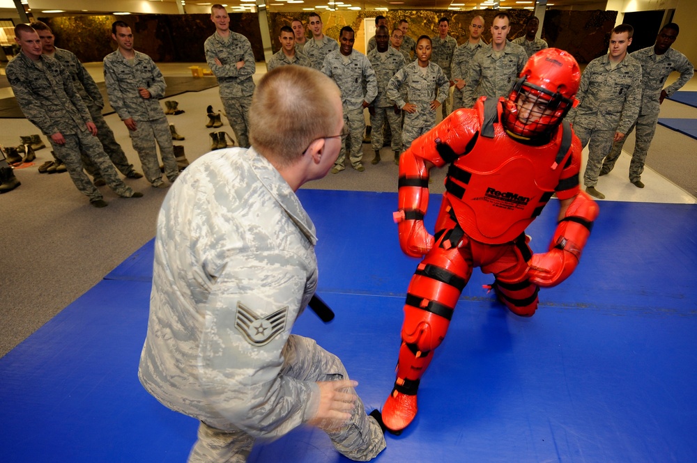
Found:
[[[646,155],[648,155],[651,141],[656,133],[661,104],[666,97],[670,97],[684,84],[687,84],[695,72],[695,68],[687,56],[671,48],[678,33],[680,33],[680,28],[677,24],[674,22],[666,24],[659,31],[656,44],[653,47],[637,50],[629,55],[641,64],[641,86],[643,87],[639,116],[635,125],[629,127],[627,132],[629,135],[636,127],[636,143],[629,163],[629,182],[638,188],[644,187],[641,173],[644,171]],[[680,72],[680,77],[670,86],[663,88],[666,79],[673,71]],[[605,158],[600,169],[600,175],[606,175],[613,169],[615,162],[622,154],[625,140],[627,140],[626,135],[625,138],[613,144],[612,151]]]

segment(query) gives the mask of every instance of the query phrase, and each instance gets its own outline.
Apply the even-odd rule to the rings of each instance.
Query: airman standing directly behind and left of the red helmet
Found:
[[[466,108],[473,107],[482,95],[494,100],[507,96],[518,80],[528,54],[520,45],[506,40],[509,31],[510,16],[498,13],[491,25],[491,43],[482,47],[470,64],[462,89]]]

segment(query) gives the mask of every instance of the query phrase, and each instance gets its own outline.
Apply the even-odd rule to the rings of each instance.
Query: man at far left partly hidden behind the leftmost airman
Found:
[[[107,121],[104,120],[104,116],[102,116],[104,98],[94,79],[92,79],[92,76],[87,72],[74,53],[54,46],[55,38],[47,24],[36,21],[29,25],[33,27],[41,39],[43,54],[51,58],[56,58],[56,60],[70,73],[72,84],[82,98],[82,102],[89,110],[92,122],[95,127],[97,127],[97,138],[100,143],[102,143],[102,148],[104,148],[109,159],[114,163],[114,166],[128,178],[142,178],[143,174],[136,172],[133,168],[133,164],[128,162],[128,158],[125,152],[123,152],[121,145],[119,145],[114,138],[114,132],[112,132],[112,129],[107,125]],[[82,162],[84,162],[87,172],[94,177],[95,183],[99,182],[102,185],[106,185],[105,180],[102,178],[102,173],[98,171],[89,157],[83,156]]]

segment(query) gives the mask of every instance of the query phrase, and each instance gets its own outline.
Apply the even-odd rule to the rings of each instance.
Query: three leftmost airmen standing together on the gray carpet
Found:
[[[143,196],[118,178],[116,168],[125,178],[145,176],[155,188],[168,186],[162,171],[169,184],[179,173],[171,129],[159,101],[166,86],[162,72],[152,58],[133,48],[133,33],[125,22],[112,24],[112,39],[117,49],[104,58],[107,94],[128,127],[144,174],[135,171],[114,139],[102,116],[104,100],[94,79],[75,54],[54,46],[47,24],[15,26],[20,54],[6,68],[24,116],[48,137],[54,156],[66,165],[75,187],[94,207],[107,206],[97,189],[101,185],[123,198]]]

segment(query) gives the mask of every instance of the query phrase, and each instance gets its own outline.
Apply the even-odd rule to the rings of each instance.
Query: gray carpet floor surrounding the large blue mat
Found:
[[[206,107],[212,104],[215,110],[220,110],[222,105],[217,88],[181,93],[176,100],[185,113],[168,118],[185,136],[185,141],[176,143],[185,147],[187,158],[193,161],[210,150],[211,130],[204,125]],[[697,109],[675,105],[680,104],[664,103],[666,113],[662,112],[661,116],[697,118]],[[125,126],[115,114],[106,119],[130,161],[140,170]],[[232,134],[227,120],[224,123],[219,130]],[[17,145],[20,134],[38,133],[31,123],[21,118],[3,119],[2,127],[0,144],[3,146]],[[633,148],[633,137],[629,137],[625,150]],[[167,190],[153,189],[144,179],[126,180],[145,196],[118,198],[107,187],[102,187],[109,206],[95,209],[77,192],[67,173],[38,173],[38,166],[52,159],[49,150],[38,151],[33,166],[16,170],[15,175],[22,185],[0,196],[0,356],[151,240],[158,209],[167,194]],[[397,191],[397,166],[392,162],[389,148],[383,149],[384,160],[377,166],[369,164],[373,157],[369,145],[363,145],[363,152],[364,173],[347,168],[305,187]],[[659,126],[648,165],[697,196],[696,153],[697,140]],[[433,176],[431,191],[442,193],[445,171],[436,171]],[[608,199],[613,198],[608,196]],[[94,310],[98,311],[99,307],[95,306]]]

